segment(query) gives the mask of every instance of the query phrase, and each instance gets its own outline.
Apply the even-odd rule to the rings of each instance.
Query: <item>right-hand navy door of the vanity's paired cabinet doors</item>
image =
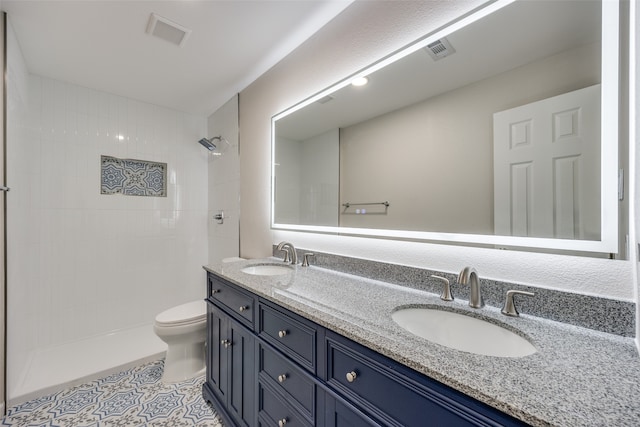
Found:
[[[255,425],[255,338],[239,323],[228,319],[227,352],[229,377],[228,409],[239,425]]]

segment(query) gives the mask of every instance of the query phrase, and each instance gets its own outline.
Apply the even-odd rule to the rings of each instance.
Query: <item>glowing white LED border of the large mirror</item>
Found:
[[[276,114],[271,119],[271,228],[278,230],[328,233],[337,235],[379,237],[397,240],[428,241],[432,243],[470,244],[517,249],[560,250],[572,252],[618,253],[618,98],[619,98],[619,19],[620,0],[602,2],[602,56],[601,56],[601,239],[570,240],[537,237],[515,237],[487,234],[460,234],[431,231],[405,231],[389,229],[353,228],[340,226],[312,226],[281,224],[275,222],[275,125],[295,111],[351,84],[357,77],[367,76],[426,45],[464,28],[473,22],[515,2],[496,0],[454,20],[417,40],[414,43],[382,58],[371,66],[358,71],[335,85],[312,95],[300,103]],[[607,47],[606,49],[604,47]],[[611,136],[615,135],[614,138]],[[606,149],[605,149],[605,143]]]

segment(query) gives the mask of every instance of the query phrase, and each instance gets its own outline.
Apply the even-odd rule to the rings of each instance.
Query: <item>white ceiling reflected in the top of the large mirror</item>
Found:
[[[314,102],[278,119],[277,135],[304,141],[559,52],[599,43],[600,9],[595,1],[512,3],[447,35],[456,51],[446,59],[433,61],[419,49],[370,74],[364,87],[347,85],[332,93],[329,102]]]

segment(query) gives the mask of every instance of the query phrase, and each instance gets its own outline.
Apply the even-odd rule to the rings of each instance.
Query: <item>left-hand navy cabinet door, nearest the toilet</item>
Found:
[[[223,340],[227,339],[228,316],[213,304],[207,304],[207,383],[221,402],[227,401],[228,352]]]

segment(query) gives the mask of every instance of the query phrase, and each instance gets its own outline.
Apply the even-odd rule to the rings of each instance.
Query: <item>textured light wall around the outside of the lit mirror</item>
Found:
[[[336,81],[483,2],[356,2],[241,93],[241,255],[270,255],[288,240],[301,248],[601,295],[635,297],[629,261],[462,246],[272,231],[269,227],[270,119]]]

